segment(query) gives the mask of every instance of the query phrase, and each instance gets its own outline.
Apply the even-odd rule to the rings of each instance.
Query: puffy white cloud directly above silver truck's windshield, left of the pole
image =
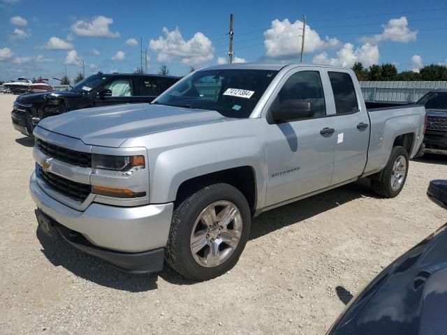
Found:
[[[199,66],[214,56],[210,38],[200,32],[189,40],[184,40],[178,27],[173,31],[163,27],[163,33],[165,37],[160,36],[158,40],[149,41],[149,47],[157,53],[156,60],[160,63],[181,59],[184,65]]]

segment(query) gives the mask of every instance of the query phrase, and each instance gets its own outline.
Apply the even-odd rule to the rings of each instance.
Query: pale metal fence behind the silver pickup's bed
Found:
[[[416,102],[432,89],[446,89],[442,82],[360,82],[363,98],[372,101]]]

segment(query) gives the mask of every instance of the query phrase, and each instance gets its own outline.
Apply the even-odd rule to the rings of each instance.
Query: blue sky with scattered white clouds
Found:
[[[61,77],[65,69],[74,78],[82,61],[86,75],[132,73],[141,46],[148,73],[162,64],[171,75],[224,64],[230,13],[233,62],[298,62],[306,15],[306,63],[447,65],[444,0],[0,0],[0,80]]]

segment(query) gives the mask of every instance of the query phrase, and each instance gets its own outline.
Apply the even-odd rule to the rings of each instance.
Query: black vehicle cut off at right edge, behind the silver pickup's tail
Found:
[[[427,110],[424,152],[447,155],[447,89],[434,89],[417,104]]]

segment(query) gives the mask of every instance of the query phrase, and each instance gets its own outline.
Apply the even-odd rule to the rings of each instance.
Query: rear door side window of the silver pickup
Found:
[[[335,112],[337,114],[357,112],[356,89],[354,89],[351,76],[343,72],[329,72],[328,74],[334,93]]]

